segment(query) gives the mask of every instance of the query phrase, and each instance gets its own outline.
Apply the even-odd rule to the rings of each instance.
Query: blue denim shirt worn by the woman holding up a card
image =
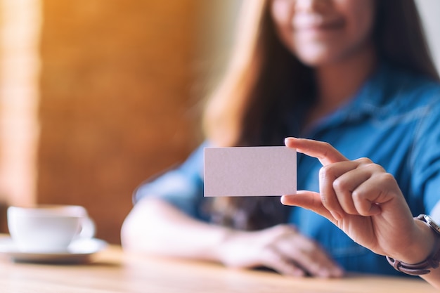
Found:
[[[440,86],[410,72],[381,65],[356,95],[302,134],[326,141],[349,158],[368,157],[394,175],[414,216],[429,214],[440,200]],[[283,142],[280,142],[282,145]],[[203,197],[203,148],[177,169],[136,190],[162,197],[206,221]],[[298,155],[299,190],[319,190],[317,159]],[[384,256],[357,245],[330,221],[292,207],[289,223],[319,243],[347,271],[399,275]]]

